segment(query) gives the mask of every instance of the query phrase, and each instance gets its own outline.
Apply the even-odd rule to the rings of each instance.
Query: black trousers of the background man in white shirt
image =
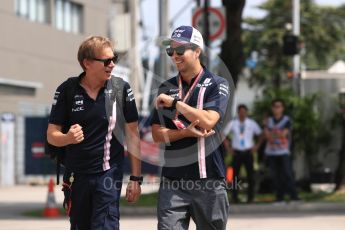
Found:
[[[239,181],[239,174],[240,174],[242,164],[244,164],[244,167],[247,172],[247,181],[248,181],[247,201],[252,202],[254,199],[254,158],[253,158],[253,153],[251,152],[251,150],[247,150],[247,151],[234,150],[232,167],[234,170],[235,181]],[[239,189],[241,188],[238,188],[237,185],[233,186],[232,198],[235,202],[238,202]]]

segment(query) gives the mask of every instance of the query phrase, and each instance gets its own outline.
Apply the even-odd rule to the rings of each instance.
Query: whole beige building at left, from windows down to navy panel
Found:
[[[44,119],[55,89],[82,71],[77,50],[85,37],[111,37],[126,52],[127,5],[126,0],[1,1],[0,186],[49,173],[42,161]]]

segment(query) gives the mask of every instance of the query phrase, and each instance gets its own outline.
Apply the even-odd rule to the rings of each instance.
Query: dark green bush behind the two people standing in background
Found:
[[[295,152],[304,151],[307,156],[317,153],[321,144],[330,141],[330,134],[319,116],[318,96],[300,97],[290,89],[267,89],[263,98],[254,102],[253,117],[262,121],[270,116],[271,101],[281,98],[285,102],[285,114],[293,123],[293,143]]]

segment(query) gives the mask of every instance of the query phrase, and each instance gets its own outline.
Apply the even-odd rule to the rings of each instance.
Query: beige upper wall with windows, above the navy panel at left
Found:
[[[112,9],[111,0],[2,0],[0,112],[47,114],[57,85],[81,71],[80,42],[110,35]]]

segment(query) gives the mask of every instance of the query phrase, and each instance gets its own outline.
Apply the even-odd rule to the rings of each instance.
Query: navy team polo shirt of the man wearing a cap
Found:
[[[204,87],[205,93],[203,98],[203,109],[214,110],[220,114],[220,120],[214,127],[215,134],[205,138],[205,164],[206,178],[224,178],[224,150],[221,147],[221,126],[222,120],[226,113],[227,103],[229,99],[230,89],[227,80],[216,76],[204,68],[198,84],[193,90],[188,105],[196,108],[198,103],[198,95],[201,87]],[[195,79],[195,78],[194,78]],[[193,79],[193,80],[194,80]],[[191,85],[193,84],[193,81]],[[189,90],[189,85],[182,82],[183,95]],[[165,81],[158,90],[158,95],[165,93],[172,97],[177,97],[179,93],[177,77],[173,77]],[[151,124],[158,124],[169,129],[177,129],[172,119],[174,119],[176,110],[170,108],[155,109],[151,118]],[[190,122],[181,114],[178,118],[189,125]],[[162,176],[172,180],[197,180],[200,179],[199,163],[198,163],[198,143],[197,138],[183,138],[181,140],[167,143],[163,145],[164,166]]]

